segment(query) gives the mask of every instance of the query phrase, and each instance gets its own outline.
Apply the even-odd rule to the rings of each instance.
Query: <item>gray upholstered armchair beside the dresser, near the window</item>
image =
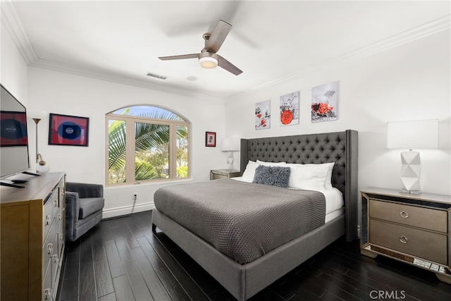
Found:
[[[74,241],[101,221],[104,186],[66,183],[66,240]]]

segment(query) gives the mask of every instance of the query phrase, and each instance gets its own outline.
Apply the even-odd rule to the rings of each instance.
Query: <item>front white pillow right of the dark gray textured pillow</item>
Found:
[[[322,191],[326,188],[329,171],[330,176],[332,175],[334,164],[334,162],[325,164],[287,164],[291,168],[288,186]]]

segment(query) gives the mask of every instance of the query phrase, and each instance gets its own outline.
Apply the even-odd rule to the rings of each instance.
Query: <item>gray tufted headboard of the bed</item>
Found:
[[[345,199],[346,240],[357,238],[357,154],[358,132],[344,132],[265,137],[241,140],[240,167],[247,161],[320,164],[335,162],[332,185]]]

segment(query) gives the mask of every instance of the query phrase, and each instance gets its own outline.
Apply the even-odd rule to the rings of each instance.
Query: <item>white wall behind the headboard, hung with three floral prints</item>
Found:
[[[421,152],[421,187],[451,194],[450,31],[226,101],[226,135],[271,137],[359,131],[359,188],[400,189],[401,149],[385,147],[386,123],[438,118],[439,149]],[[311,123],[311,87],[339,81],[338,120]],[[299,125],[280,127],[280,95],[300,91]],[[271,99],[271,128],[254,129],[255,103]],[[239,156],[235,154],[235,159]]]

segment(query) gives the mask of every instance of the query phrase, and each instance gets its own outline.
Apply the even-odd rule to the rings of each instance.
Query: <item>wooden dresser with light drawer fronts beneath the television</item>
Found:
[[[1,300],[54,300],[63,262],[65,173],[1,188]]]

